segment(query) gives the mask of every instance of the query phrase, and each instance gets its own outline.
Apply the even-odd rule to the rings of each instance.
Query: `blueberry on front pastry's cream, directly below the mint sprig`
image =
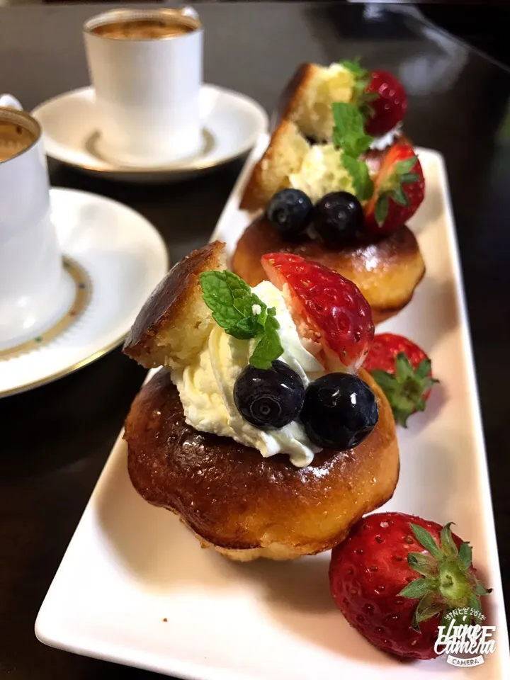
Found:
[[[295,420],[303,399],[301,378],[283,361],[273,361],[268,369],[246,366],[234,385],[237,410],[262,429],[283,427]]]

